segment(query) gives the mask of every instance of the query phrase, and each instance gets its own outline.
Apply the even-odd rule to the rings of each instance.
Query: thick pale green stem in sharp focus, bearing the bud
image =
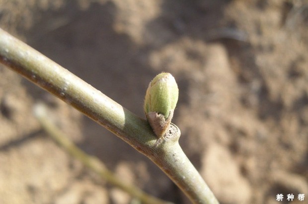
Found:
[[[156,144],[147,120],[0,29],[0,62],[74,106],[149,157],[195,204],[218,204],[177,139]]]

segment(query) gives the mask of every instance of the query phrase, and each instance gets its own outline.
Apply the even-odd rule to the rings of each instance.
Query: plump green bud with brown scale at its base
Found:
[[[144,111],[158,137],[163,136],[169,129],[178,92],[175,79],[169,73],[158,74],[149,84]]]

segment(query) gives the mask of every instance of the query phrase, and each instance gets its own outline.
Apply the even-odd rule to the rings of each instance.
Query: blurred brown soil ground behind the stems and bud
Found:
[[[149,82],[170,72],[180,144],[221,204],[307,203],[307,0],[0,0],[0,27],[143,118]],[[36,102],[126,182],[190,203],[148,158],[1,65],[0,204],[132,202],[42,131]]]

